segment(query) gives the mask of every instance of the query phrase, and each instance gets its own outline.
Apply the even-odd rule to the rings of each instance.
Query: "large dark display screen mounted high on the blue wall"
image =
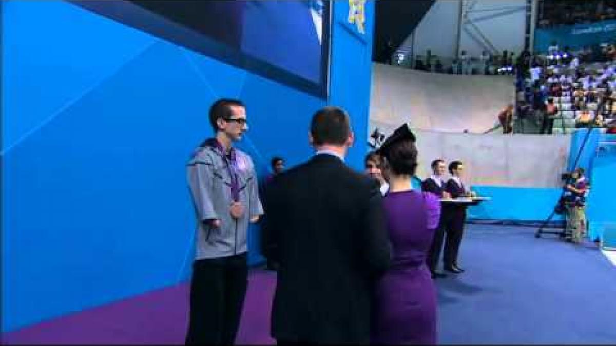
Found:
[[[222,62],[327,95],[328,0],[73,2]]]

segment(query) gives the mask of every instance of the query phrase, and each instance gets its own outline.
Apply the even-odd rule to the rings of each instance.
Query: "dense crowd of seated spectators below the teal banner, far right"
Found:
[[[526,62],[530,66],[517,66],[519,118],[541,126],[541,134],[558,127],[554,119],[561,119],[563,129],[567,123],[585,127],[593,120],[593,126],[615,126],[614,45],[579,52],[553,46],[546,55],[530,55]],[[604,107],[599,106],[602,102]]]

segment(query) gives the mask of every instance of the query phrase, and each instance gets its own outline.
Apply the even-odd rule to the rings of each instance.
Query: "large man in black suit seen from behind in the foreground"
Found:
[[[375,280],[391,263],[378,184],[344,165],[349,116],[317,111],[316,155],[272,180],[267,257],[280,264],[272,311],[279,344],[368,344]]]

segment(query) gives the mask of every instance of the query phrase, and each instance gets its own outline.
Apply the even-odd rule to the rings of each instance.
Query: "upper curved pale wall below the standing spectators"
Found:
[[[515,97],[513,76],[464,76],[373,64],[370,118],[379,124],[482,133]]]

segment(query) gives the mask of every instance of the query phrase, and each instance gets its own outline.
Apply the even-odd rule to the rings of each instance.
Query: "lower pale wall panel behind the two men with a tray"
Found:
[[[389,135],[399,126],[371,123]],[[415,129],[419,151],[417,176],[431,174],[435,158],[462,161],[466,180],[472,185],[500,187],[559,188],[569,156],[567,135],[453,134]]]

